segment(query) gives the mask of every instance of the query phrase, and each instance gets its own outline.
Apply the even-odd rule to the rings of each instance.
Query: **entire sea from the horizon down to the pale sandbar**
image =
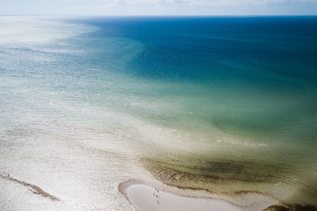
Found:
[[[317,206],[316,16],[0,16],[0,29],[2,210],[135,210],[118,185],[162,178]]]

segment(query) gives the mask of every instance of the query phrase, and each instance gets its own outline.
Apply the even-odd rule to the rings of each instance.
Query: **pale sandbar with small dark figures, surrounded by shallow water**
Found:
[[[163,186],[163,185],[162,185]],[[263,211],[276,204],[264,196],[255,196],[252,202],[243,205],[230,202],[220,195],[183,194],[167,190],[166,187],[153,187],[140,180],[129,180],[119,184],[119,191],[139,211],[159,210],[217,210],[217,211]]]

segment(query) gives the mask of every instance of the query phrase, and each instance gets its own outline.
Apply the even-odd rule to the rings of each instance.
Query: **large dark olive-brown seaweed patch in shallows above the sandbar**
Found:
[[[207,159],[187,159],[186,162],[178,160],[144,159],[146,169],[149,169],[157,178],[166,178],[173,186],[198,181],[204,183],[221,183],[224,181],[272,183],[285,169],[272,163],[240,162],[233,160],[213,161]],[[178,184],[180,183],[180,184]],[[188,185],[190,186],[190,185]],[[183,187],[184,188],[184,187]]]

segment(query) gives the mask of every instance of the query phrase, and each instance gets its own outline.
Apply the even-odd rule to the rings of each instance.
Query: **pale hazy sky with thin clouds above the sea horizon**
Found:
[[[0,15],[317,15],[317,0],[0,0]]]

